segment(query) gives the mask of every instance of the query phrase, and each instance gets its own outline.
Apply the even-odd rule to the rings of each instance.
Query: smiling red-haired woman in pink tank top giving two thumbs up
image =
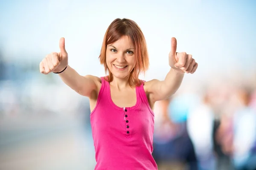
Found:
[[[158,100],[172,96],[184,73],[198,67],[192,55],[176,52],[172,38],[170,71],[164,81],[138,78],[148,69],[144,35],[133,20],[116,19],[108,27],[99,56],[105,77],[81,76],[68,65],[64,38],[60,52],[48,54],[40,63],[43,74],[58,74],[77,93],[90,99],[90,121],[96,151],[95,170],[157,170],[152,157],[154,113]]]

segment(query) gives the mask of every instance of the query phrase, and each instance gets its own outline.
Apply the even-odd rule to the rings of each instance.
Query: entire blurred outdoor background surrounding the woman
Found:
[[[104,76],[103,36],[116,18],[143,30],[163,80],[171,37],[199,63],[155,105],[159,170],[256,169],[256,1],[0,0],[0,170],[93,170],[86,97],[39,63],[66,39],[69,65]]]

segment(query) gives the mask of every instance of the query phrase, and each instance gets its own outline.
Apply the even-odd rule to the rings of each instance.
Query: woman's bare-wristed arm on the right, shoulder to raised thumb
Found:
[[[169,73],[163,81],[153,79],[145,82],[151,102],[164,100],[175,94],[181,85],[185,73],[195,73],[198,63],[192,55],[185,52],[177,53],[177,40],[172,37],[171,51],[169,53]]]

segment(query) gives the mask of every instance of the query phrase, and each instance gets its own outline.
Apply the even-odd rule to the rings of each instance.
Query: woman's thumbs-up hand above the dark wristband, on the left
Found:
[[[68,65],[68,55],[65,49],[65,39],[61,38],[59,42],[60,52],[48,54],[40,62],[40,72],[49,74],[50,72],[60,72]]]

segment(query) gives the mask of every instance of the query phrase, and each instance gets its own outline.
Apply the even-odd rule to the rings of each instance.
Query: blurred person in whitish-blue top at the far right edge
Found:
[[[256,111],[250,88],[239,88],[240,107],[233,115],[233,163],[236,170],[256,170]]]

